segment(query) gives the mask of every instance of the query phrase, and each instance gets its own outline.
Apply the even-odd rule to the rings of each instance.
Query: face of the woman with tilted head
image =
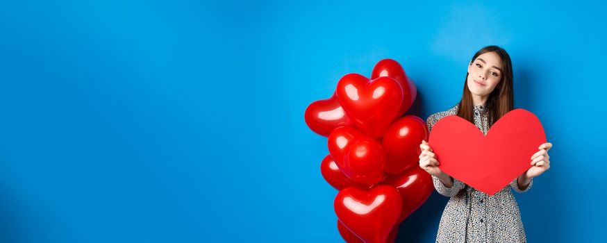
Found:
[[[468,65],[468,89],[481,97],[491,94],[501,80],[501,70],[501,58],[497,53],[482,53]]]

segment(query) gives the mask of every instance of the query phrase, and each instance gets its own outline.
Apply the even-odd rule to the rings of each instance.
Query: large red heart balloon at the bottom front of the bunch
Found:
[[[372,190],[348,187],[338,192],[333,206],[338,219],[367,243],[384,243],[397,225],[403,199],[390,185]]]

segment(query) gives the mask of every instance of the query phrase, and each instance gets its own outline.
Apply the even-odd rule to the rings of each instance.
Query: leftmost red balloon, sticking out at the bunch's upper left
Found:
[[[338,126],[352,125],[342,106],[335,97],[335,92],[329,99],[321,99],[310,103],[304,115],[308,127],[319,135],[329,136]]]

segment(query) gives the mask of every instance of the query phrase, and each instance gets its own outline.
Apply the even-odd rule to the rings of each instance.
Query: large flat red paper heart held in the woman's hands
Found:
[[[493,195],[531,168],[531,156],[545,142],[540,119],[515,109],[497,120],[486,136],[457,115],[443,117],[433,126],[429,145],[442,171]]]

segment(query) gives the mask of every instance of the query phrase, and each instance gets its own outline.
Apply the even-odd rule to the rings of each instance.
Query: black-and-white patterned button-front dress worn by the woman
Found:
[[[456,115],[458,108],[459,104],[430,115],[426,120],[429,131],[442,117]],[[487,134],[489,117],[482,105],[474,106],[474,124]],[[436,242],[526,242],[519,206],[510,187],[516,192],[526,192],[533,185],[533,178],[525,190],[520,190],[515,178],[493,196],[456,178],[451,187],[443,185],[436,176],[432,178],[438,193],[450,197],[440,218]]]

